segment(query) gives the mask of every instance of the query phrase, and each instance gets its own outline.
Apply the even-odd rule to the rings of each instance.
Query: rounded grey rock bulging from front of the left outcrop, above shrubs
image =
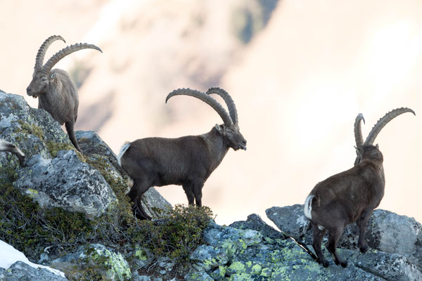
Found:
[[[61,150],[56,158],[34,155],[20,169],[15,188],[33,197],[41,207],[60,207],[94,218],[116,202],[110,185],[75,151]]]

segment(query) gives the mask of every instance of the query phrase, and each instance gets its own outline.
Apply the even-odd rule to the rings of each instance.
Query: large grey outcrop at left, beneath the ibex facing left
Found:
[[[30,195],[41,207],[63,207],[89,218],[99,216],[129,190],[129,177],[113,151],[92,131],[77,131],[82,154],[49,112],[27,105],[22,96],[0,91],[0,139],[10,141],[26,156],[21,167],[11,153],[0,153],[0,178]],[[60,151],[62,150],[62,151]],[[171,206],[155,189],[143,195],[147,213]]]

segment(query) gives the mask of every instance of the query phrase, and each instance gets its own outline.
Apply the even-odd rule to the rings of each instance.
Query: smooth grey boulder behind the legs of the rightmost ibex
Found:
[[[299,242],[312,244],[312,228],[308,228],[307,218],[303,214],[303,205],[272,207],[267,209],[266,213],[282,233]],[[357,249],[358,238],[357,226],[352,223],[345,227],[338,247]],[[327,235],[324,237],[323,243],[326,240]],[[422,226],[414,218],[376,209],[369,218],[366,241],[373,249],[407,256],[411,263],[422,268]]]

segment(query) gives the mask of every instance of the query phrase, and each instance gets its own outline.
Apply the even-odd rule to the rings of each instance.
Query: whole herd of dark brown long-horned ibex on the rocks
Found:
[[[53,41],[63,37],[54,35],[46,39],[39,48],[35,60],[32,81],[27,87],[27,95],[39,98],[38,107],[44,108],[59,124],[65,124],[70,141],[77,150],[74,125],[79,105],[77,87],[64,70],[52,70],[53,66],[66,55],[84,48],[101,51],[92,44],[75,44],[63,48],[44,65],[44,55]],[[229,112],[224,110],[211,94],[221,96]],[[211,88],[206,93],[191,89],[177,89],[166,98],[192,96],[210,105],[222,118],[223,124],[216,124],[211,131],[199,136],[180,138],[141,138],[125,143],[120,149],[117,161],[132,178],[134,185],[127,194],[133,202],[134,215],[141,219],[151,219],[141,204],[141,198],[148,188],[163,185],[181,185],[188,198],[188,204],[202,206],[202,188],[217,166],[222,162],[229,148],[246,150],[246,140],[238,125],[236,105],[229,93],[219,88]],[[357,223],[359,228],[359,249],[368,249],[365,240],[366,223],[373,209],[380,204],[385,187],[383,154],[373,142],[381,129],[393,118],[404,112],[414,111],[402,107],[388,112],[373,126],[365,141],[362,138],[362,114],[354,122],[354,138],[357,157],[354,166],[340,174],[335,174],[317,183],[305,200],[305,216],[313,227],[313,247],[317,259],[327,267],[321,251],[321,240],[328,230],[326,248],[333,254],[337,265],[347,266],[335,250],[343,228]],[[15,145],[0,140],[0,151],[12,152],[24,164],[25,154]]]

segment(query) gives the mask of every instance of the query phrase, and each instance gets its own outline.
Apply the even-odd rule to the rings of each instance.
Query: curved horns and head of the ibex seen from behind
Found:
[[[378,122],[376,122],[371,132],[369,132],[368,137],[366,138],[365,142],[364,142],[364,139],[362,138],[362,128],[361,128],[361,123],[360,123],[361,120],[363,120],[365,123],[365,119],[362,113],[359,113],[359,115],[357,115],[354,121],[354,140],[356,141],[356,155],[357,155],[356,159],[354,160],[354,166],[356,166],[357,164],[359,164],[359,162],[362,161],[362,157],[363,157],[362,153],[364,153],[364,150],[362,150],[362,148],[367,145],[373,146],[373,142],[375,141],[376,136],[378,136],[378,133],[381,132],[384,126],[388,124],[388,122],[390,122],[392,119],[394,119],[395,117],[399,115],[402,115],[405,112],[411,112],[414,115],[416,115],[413,110],[407,107],[400,107],[400,108],[396,108],[395,110],[391,110],[390,112],[385,114],[381,119],[379,119]],[[378,145],[376,145],[376,148],[378,150]],[[382,156],[383,155],[381,154],[381,157]]]

